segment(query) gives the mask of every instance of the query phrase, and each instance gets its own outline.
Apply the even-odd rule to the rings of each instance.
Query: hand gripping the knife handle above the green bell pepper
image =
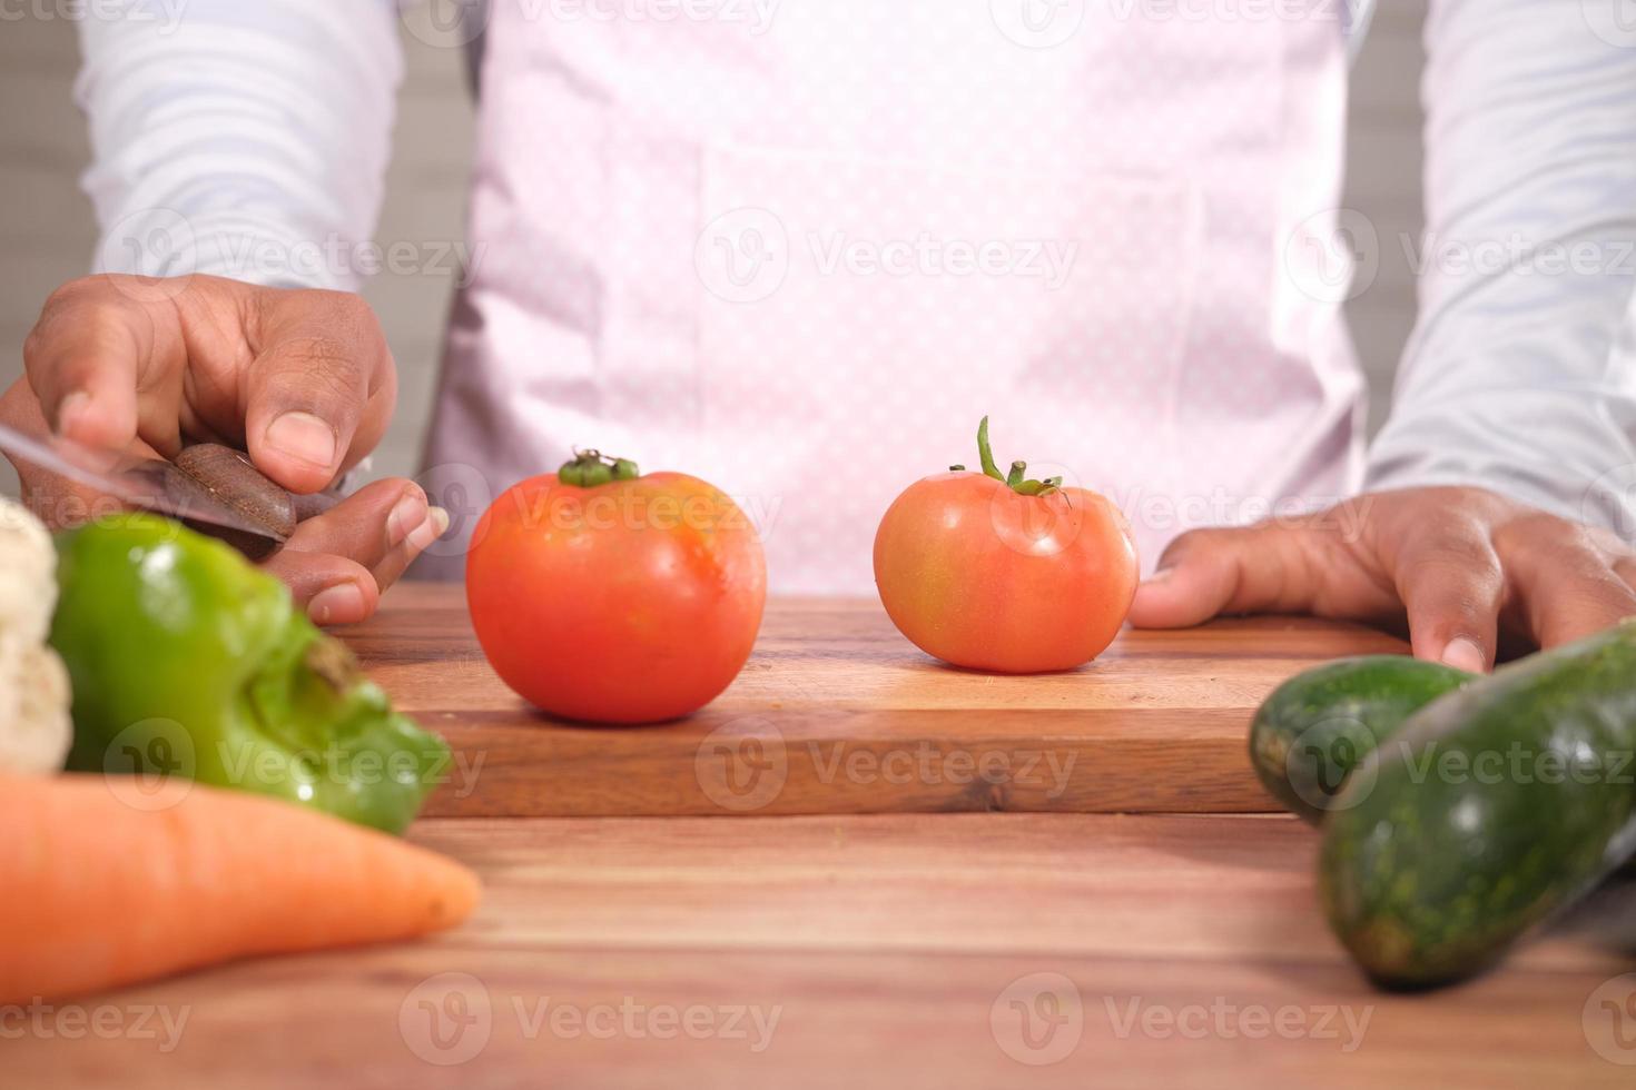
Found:
[[[72,281],[46,301],[23,360],[26,377],[0,397],[13,428],[147,458],[172,458],[183,440],[227,443],[301,494],[363,459],[398,397],[358,296],[213,276]],[[18,474],[51,526],[106,500],[28,462]],[[362,621],[447,520],[412,480],[376,480],[301,523],[265,565],[316,621]]]

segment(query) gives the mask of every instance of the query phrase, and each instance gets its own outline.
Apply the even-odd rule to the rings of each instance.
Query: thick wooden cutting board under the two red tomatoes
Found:
[[[1273,811],[1245,757],[1266,693],[1317,662],[1405,650],[1368,628],[1253,618],[1127,631],[1080,670],[998,677],[921,654],[875,601],[775,600],[710,708],[594,727],[501,683],[458,585],[398,587],[344,636],[455,747],[427,814],[463,817]]]

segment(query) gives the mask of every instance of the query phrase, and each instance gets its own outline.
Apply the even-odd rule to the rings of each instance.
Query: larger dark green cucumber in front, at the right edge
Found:
[[[1636,848],[1636,621],[1440,699],[1324,822],[1330,927],[1378,982],[1499,961]]]

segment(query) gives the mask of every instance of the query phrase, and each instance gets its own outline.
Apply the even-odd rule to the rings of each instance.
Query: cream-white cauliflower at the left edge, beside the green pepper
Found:
[[[56,567],[51,533],[0,497],[0,771],[57,771],[74,740],[69,675],[46,646]]]

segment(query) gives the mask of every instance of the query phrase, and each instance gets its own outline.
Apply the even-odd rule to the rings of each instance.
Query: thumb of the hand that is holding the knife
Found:
[[[250,366],[250,461],[291,492],[317,492],[357,461],[355,443],[380,438],[394,395],[391,353],[368,307],[357,296],[294,293]]]

